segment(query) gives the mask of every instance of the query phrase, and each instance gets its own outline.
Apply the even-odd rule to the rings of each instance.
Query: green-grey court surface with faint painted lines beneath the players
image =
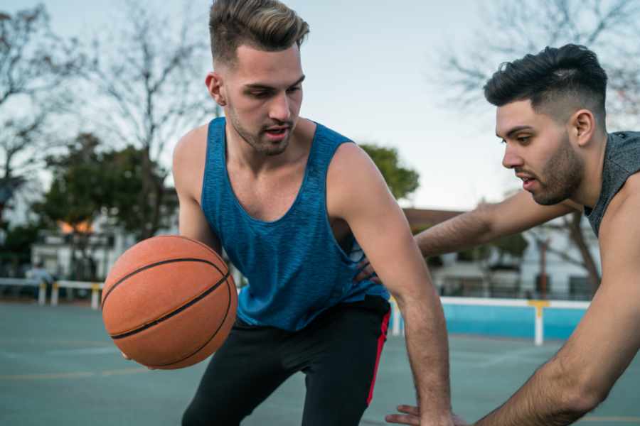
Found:
[[[508,398],[560,344],[535,347],[525,340],[452,336],[454,410],[477,420]],[[176,426],[205,366],[206,361],[178,371],[148,371],[122,359],[105,334],[100,312],[0,302],[2,426]],[[636,356],[607,401],[578,424],[640,425],[639,389]],[[361,425],[385,425],[384,415],[398,403],[411,403],[413,394],[405,342],[390,337]],[[242,425],[299,425],[303,400],[304,376],[298,374]]]

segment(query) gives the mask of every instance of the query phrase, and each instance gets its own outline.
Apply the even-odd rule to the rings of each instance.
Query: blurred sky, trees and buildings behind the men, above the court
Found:
[[[366,148],[416,232],[518,190],[482,95],[501,62],[587,45],[609,73],[609,131],[639,124],[638,0],[288,4],[311,26],[302,116]],[[1,277],[99,282],[177,231],[171,153],[221,114],[203,82],[209,6],[0,1]],[[587,300],[599,283],[580,214],[429,263],[442,295]]]

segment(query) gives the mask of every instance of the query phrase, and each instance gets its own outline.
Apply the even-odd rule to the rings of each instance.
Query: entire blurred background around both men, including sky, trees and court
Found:
[[[311,26],[302,116],[366,149],[415,233],[519,190],[482,92],[501,62],[587,45],[609,75],[608,130],[640,124],[640,0],[285,2]],[[204,85],[209,6],[0,0],[2,425],[176,425],[193,395],[206,363],[124,361],[98,300],[127,248],[178,232],[171,153],[221,114]],[[553,356],[601,272],[579,213],[426,261],[468,420]],[[402,325],[394,305],[362,425],[414,398]],[[640,424],[639,377],[635,362],[580,424]],[[243,425],[299,425],[303,398],[296,375]]]

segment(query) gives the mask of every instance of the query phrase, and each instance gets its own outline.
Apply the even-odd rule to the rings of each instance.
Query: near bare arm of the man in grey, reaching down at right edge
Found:
[[[640,349],[640,185],[600,229],[602,283],[558,354],[477,426],[569,425],[601,403]],[[611,210],[615,209],[614,212]]]

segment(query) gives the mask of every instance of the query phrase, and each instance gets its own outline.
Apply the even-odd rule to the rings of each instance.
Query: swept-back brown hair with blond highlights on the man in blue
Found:
[[[209,16],[214,64],[233,65],[240,45],[267,52],[298,48],[309,24],[277,0],[214,0]]]

